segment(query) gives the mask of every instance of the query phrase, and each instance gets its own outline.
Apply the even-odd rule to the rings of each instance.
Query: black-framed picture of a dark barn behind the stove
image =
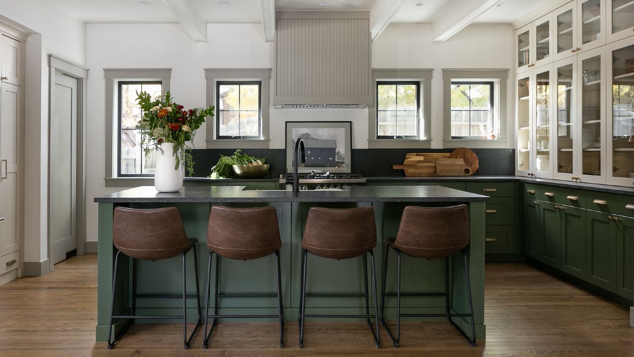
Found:
[[[287,121],[287,172],[293,172],[295,153],[292,151],[298,137],[304,140],[306,148],[306,163],[300,164],[299,172],[351,172],[351,121]]]

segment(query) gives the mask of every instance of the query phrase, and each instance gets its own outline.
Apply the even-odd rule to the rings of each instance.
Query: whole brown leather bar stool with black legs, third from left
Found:
[[[304,320],[315,318],[366,318],[372,331],[377,348],[381,347],[378,333],[378,298],[377,276],[375,273],[374,253],[377,245],[377,227],[374,220],[374,209],[357,208],[321,208],[312,207],[308,211],[304,238],[302,238],[302,282],[299,300],[299,347],[304,347]],[[306,271],[307,253],[328,259],[351,259],[363,257],[363,283],[365,293],[307,293]],[[374,315],[370,314],[370,297],[368,291],[368,260],[372,259],[372,288],[374,291]],[[306,297],[365,297],[365,314],[306,314]],[[372,327],[370,318],[377,321],[377,330]]]

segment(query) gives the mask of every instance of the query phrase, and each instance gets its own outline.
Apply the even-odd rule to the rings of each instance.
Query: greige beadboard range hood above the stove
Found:
[[[277,11],[273,107],[372,104],[369,11]]]

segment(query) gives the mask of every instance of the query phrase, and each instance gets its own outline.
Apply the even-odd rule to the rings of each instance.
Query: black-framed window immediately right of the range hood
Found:
[[[418,138],[420,82],[377,81],[377,138]]]

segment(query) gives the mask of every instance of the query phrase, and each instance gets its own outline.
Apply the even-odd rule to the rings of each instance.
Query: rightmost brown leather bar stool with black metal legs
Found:
[[[469,284],[469,262],[464,248],[469,245],[469,209],[467,205],[426,208],[418,206],[406,206],[401,217],[401,225],[396,239],[386,239],[385,266],[383,271],[383,297],[381,304],[381,322],[390,335],[394,346],[398,347],[401,336],[401,316],[407,317],[446,317],[451,325],[458,329],[469,340],[471,346],[475,346],[474,311],[471,301],[471,286]],[[396,251],[398,268],[396,273],[396,293],[385,293],[387,283],[387,257],[390,247]],[[410,257],[423,259],[445,259],[445,292],[442,293],[401,293],[401,252]],[[462,252],[465,259],[465,278],[467,281],[467,295],[469,299],[468,314],[450,313],[449,295],[449,258],[458,252]],[[417,272],[420,273],[420,272]],[[401,295],[416,296],[444,296],[444,314],[401,314]],[[384,319],[385,297],[396,296],[396,337],[387,327]],[[467,336],[451,318],[469,317],[471,320],[471,337]]]

